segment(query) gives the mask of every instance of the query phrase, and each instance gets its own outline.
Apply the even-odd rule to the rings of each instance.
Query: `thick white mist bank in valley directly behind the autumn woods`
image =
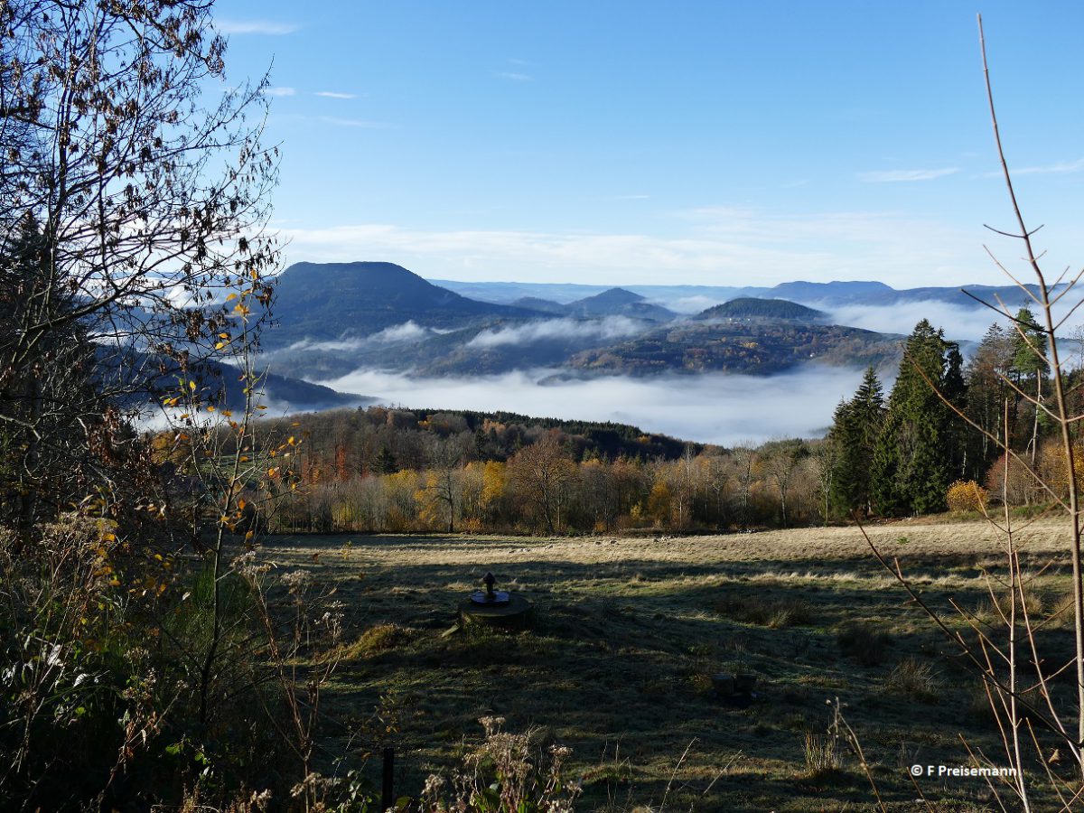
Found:
[[[862,379],[861,370],[812,364],[770,377],[718,373],[554,382],[554,372],[424,378],[358,370],[321,383],[389,405],[614,421],[684,440],[736,446],[821,436],[836,405]]]

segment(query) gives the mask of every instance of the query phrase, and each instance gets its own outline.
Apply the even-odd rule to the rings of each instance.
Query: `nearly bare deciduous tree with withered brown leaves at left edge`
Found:
[[[209,14],[0,1],[0,435],[24,526],[108,481],[94,435],[232,340],[228,289],[270,301],[266,98],[207,87]]]

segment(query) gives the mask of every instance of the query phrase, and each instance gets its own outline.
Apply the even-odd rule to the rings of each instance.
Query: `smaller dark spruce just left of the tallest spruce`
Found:
[[[883,389],[869,366],[854,397],[836,409],[828,433],[828,442],[836,447],[831,503],[837,513],[869,512],[869,469],[883,426]]]

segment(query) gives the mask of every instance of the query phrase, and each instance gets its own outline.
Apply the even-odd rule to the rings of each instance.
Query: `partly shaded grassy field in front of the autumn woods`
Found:
[[[894,522],[869,534],[945,611],[950,598],[992,616],[985,572],[1004,569],[1001,539],[975,522]],[[1021,534],[1044,611],[1063,602],[1061,527]],[[572,748],[583,810],[872,809],[853,757],[816,775],[808,733],[824,734],[827,701],[846,705],[891,810],[915,809],[907,767],[998,762],[977,676],[870,554],[856,529],[712,537],[279,537],[266,557],[334,583],[357,642],[325,693],[325,709],[395,728],[397,790],[416,792],[447,769],[478,719],[538,727]],[[486,570],[533,602],[524,633],[446,633]],[[1070,620],[1046,631],[1070,653]],[[374,628],[377,628],[374,631]],[[748,708],[720,701],[711,675],[759,681]],[[371,731],[372,721],[367,724]],[[382,724],[382,727],[388,727]],[[1004,762],[1004,758],[1001,760]],[[984,782],[922,779],[944,810],[994,809]]]

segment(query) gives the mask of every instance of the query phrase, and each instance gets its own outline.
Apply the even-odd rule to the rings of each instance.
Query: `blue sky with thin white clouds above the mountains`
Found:
[[[1002,284],[1084,262],[1084,5],[220,0],[271,67],[286,262],[596,284]],[[272,64],[273,61],[273,64]]]

